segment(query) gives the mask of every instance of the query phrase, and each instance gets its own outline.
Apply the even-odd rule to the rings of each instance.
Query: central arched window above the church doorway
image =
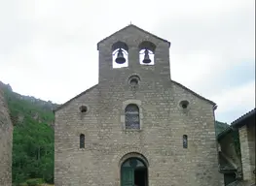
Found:
[[[126,129],[140,129],[139,109],[135,104],[129,104],[125,110]]]

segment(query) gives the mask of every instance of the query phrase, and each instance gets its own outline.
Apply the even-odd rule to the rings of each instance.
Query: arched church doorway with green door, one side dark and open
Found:
[[[128,158],[121,166],[121,186],[148,186],[148,168],[139,158]]]

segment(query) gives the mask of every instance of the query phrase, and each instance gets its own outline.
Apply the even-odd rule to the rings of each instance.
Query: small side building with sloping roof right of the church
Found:
[[[240,116],[217,137],[224,185],[255,185],[255,110]]]

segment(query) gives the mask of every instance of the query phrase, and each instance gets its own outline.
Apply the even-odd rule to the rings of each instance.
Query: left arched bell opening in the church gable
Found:
[[[128,67],[128,45],[124,42],[117,42],[112,46],[112,67]]]

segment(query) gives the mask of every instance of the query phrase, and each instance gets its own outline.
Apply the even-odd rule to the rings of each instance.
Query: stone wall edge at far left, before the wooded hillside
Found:
[[[0,185],[12,185],[13,124],[0,86]]]

